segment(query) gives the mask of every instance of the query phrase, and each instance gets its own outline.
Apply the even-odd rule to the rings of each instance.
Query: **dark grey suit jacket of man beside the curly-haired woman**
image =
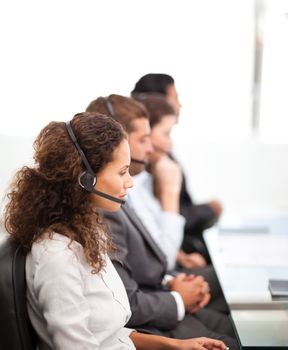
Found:
[[[153,238],[127,205],[116,213],[105,213],[117,251],[111,256],[130,300],[129,327],[175,328],[177,305],[161,281],[166,258]]]

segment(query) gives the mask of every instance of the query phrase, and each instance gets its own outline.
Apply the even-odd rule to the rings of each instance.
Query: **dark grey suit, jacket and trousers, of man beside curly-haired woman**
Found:
[[[229,319],[214,310],[202,309],[177,321],[177,305],[162,286],[166,259],[136,213],[128,205],[105,213],[116,252],[111,255],[128,294],[132,316],[127,323],[144,332],[185,339],[199,336],[222,339],[231,349],[234,340]]]

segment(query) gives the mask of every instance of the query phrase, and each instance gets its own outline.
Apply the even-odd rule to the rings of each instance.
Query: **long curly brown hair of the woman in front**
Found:
[[[124,138],[122,126],[99,113],[79,113],[71,121],[78,143],[97,174]],[[44,232],[79,242],[92,272],[105,266],[113,248],[110,234],[92,206],[91,194],[78,183],[86,169],[64,122],[50,122],[34,142],[35,166],[20,169],[7,194],[4,224],[12,238],[30,251]]]

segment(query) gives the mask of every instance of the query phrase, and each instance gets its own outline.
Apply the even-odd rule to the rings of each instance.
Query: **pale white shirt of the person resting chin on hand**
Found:
[[[167,259],[168,269],[176,265],[177,253],[184,236],[185,218],[163,211],[153,193],[153,177],[147,171],[133,176],[134,187],[129,192],[131,206]]]

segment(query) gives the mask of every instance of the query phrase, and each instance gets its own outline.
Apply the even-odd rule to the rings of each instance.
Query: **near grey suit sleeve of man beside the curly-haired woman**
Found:
[[[127,326],[147,326],[160,330],[175,328],[178,321],[173,295],[162,285],[154,289],[143,288],[133,277],[133,266],[129,263],[129,256],[136,255],[134,261],[138,264],[141,264],[141,256],[137,257],[137,251],[129,251],[129,232],[125,215],[120,210],[117,213],[105,214],[105,219],[116,245],[116,252],[111,256],[111,260],[125,285],[130,301],[132,316]]]

